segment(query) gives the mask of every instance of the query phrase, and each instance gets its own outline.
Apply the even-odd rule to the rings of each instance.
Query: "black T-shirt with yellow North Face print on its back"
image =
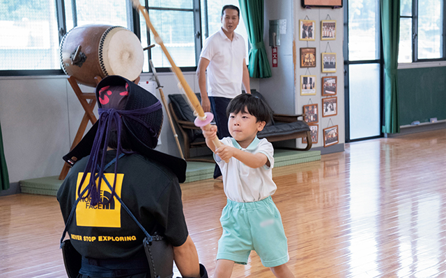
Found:
[[[115,156],[116,151],[108,151],[106,163]],[[82,158],[75,164],[57,193],[65,222],[77,199],[77,183],[82,178],[88,158]],[[113,175],[114,167],[109,167],[105,172]],[[140,154],[120,158],[118,173],[122,174],[122,183],[117,181],[116,193],[148,233],[163,234],[173,246],[183,245],[188,234],[176,176],[163,165]],[[112,183],[113,179],[109,181]],[[104,189],[103,195],[107,198],[110,190]],[[94,265],[101,265],[101,259],[107,261],[113,258],[116,261],[134,258],[136,262],[128,264],[130,269],[120,270],[121,274],[134,275],[148,271],[146,254],[141,244],[144,233],[119,202],[91,207],[88,200],[80,201],[76,213],[68,229],[71,243],[85,259],[90,259],[93,269]]]

